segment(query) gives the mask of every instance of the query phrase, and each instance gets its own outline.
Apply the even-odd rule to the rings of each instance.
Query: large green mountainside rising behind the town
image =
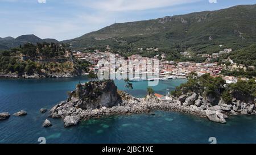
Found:
[[[129,56],[137,53],[152,57],[166,53],[168,60],[186,60],[180,52],[212,54],[223,48],[234,50],[255,43],[256,5],[235,6],[217,11],[195,12],[186,15],[130,23],[118,23],[99,31],[67,40],[74,49],[100,49]],[[220,47],[219,45],[223,45]],[[158,48],[158,51],[146,48]],[[142,49],[142,50],[141,50]],[[203,58],[193,61],[204,61]],[[255,58],[254,58],[255,60]]]

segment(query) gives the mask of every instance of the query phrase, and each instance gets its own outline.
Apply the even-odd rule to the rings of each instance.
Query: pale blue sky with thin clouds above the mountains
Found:
[[[0,37],[73,39],[113,23],[252,5],[256,0],[0,0]]]

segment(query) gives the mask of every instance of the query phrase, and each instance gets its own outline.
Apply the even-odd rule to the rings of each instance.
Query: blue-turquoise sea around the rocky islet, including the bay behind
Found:
[[[19,110],[27,116],[0,122],[0,143],[255,143],[256,121],[254,116],[236,116],[227,124],[209,122],[207,119],[177,112],[154,111],[155,115],[138,114],[92,119],[77,127],[64,128],[61,119],[49,119],[53,126],[42,127],[48,114],[40,108],[51,108],[67,98],[67,91],[86,77],[60,79],[0,79],[0,112],[11,114]],[[154,90],[166,94],[166,89],[185,82],[184,79],[159,81]],[[133,82],[134,90],[126,90],[125,82],[115,81],[118,89],[136,97],[146,95],[147,82]]]

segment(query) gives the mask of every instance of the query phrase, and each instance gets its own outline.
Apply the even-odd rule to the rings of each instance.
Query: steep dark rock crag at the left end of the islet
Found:
[[[75,102],[82,110],[113,107],[121,103],[114,81],[93,81],[76,86],[71,92],[69,102]]]

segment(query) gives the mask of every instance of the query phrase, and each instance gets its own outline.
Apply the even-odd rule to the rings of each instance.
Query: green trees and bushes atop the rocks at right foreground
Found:
[[[210,74],[204,74],[196,77],[195,73],[188,76],[188,82],[176,87],[171,94],[179,97],[182,94],[198,93],[204,97],[222,97],[226,103],[232,102],[233,97],[241,100],[254,100],[256,97],[255,79],[249,81],[238,80],[237,83],[226,84],[221,77],[211,77]]]

